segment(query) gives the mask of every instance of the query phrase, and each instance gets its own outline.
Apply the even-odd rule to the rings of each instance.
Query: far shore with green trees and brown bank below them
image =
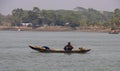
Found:
[[[0,13],[0,30],[106,31],[120,28],[120,9],[114,12],[76,7],[73,10],[33,10],[17,8],[9,15]]]

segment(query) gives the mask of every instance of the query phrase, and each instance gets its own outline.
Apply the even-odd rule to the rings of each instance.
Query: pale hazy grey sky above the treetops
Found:
[[[120,0],[0,0],[0,13],[11,14],[13,9],[32,10],[73,10],[76,7],[93,8],[99,11],[114,11],[120,9]]]

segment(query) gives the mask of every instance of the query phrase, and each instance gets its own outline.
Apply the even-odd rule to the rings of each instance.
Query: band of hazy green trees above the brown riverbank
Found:
[[[14,9],[11,15],[6,16],[0,13],[0,26],[21,26],[21,23],[32,23],[30,27],[120,26],[120,9],[108,12],[83,7],[76,7],[74,10],[40,10],[38,7],[33,7],[33,10]]]

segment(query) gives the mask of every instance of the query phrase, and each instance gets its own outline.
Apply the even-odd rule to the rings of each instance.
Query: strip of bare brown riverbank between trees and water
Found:
[[[44,26],[38,28],[32,27],[15,27],[15,26],[0,26],[0,30],[11,31],[80,31],[80,32],[109,32],[110,28],[95,28],[95,27],[64,27],[64,26]]]

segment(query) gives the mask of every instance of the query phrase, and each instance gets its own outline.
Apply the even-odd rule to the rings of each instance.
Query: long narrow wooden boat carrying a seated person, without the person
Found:
[[[91,49],[79,48],[77,50],[65,51],[64,49],[53,49],[53,48],[45,49],[43,46],[29,45],[29,47],[33,50],[44,52],[44,53],[86,53],[91,50]]]

